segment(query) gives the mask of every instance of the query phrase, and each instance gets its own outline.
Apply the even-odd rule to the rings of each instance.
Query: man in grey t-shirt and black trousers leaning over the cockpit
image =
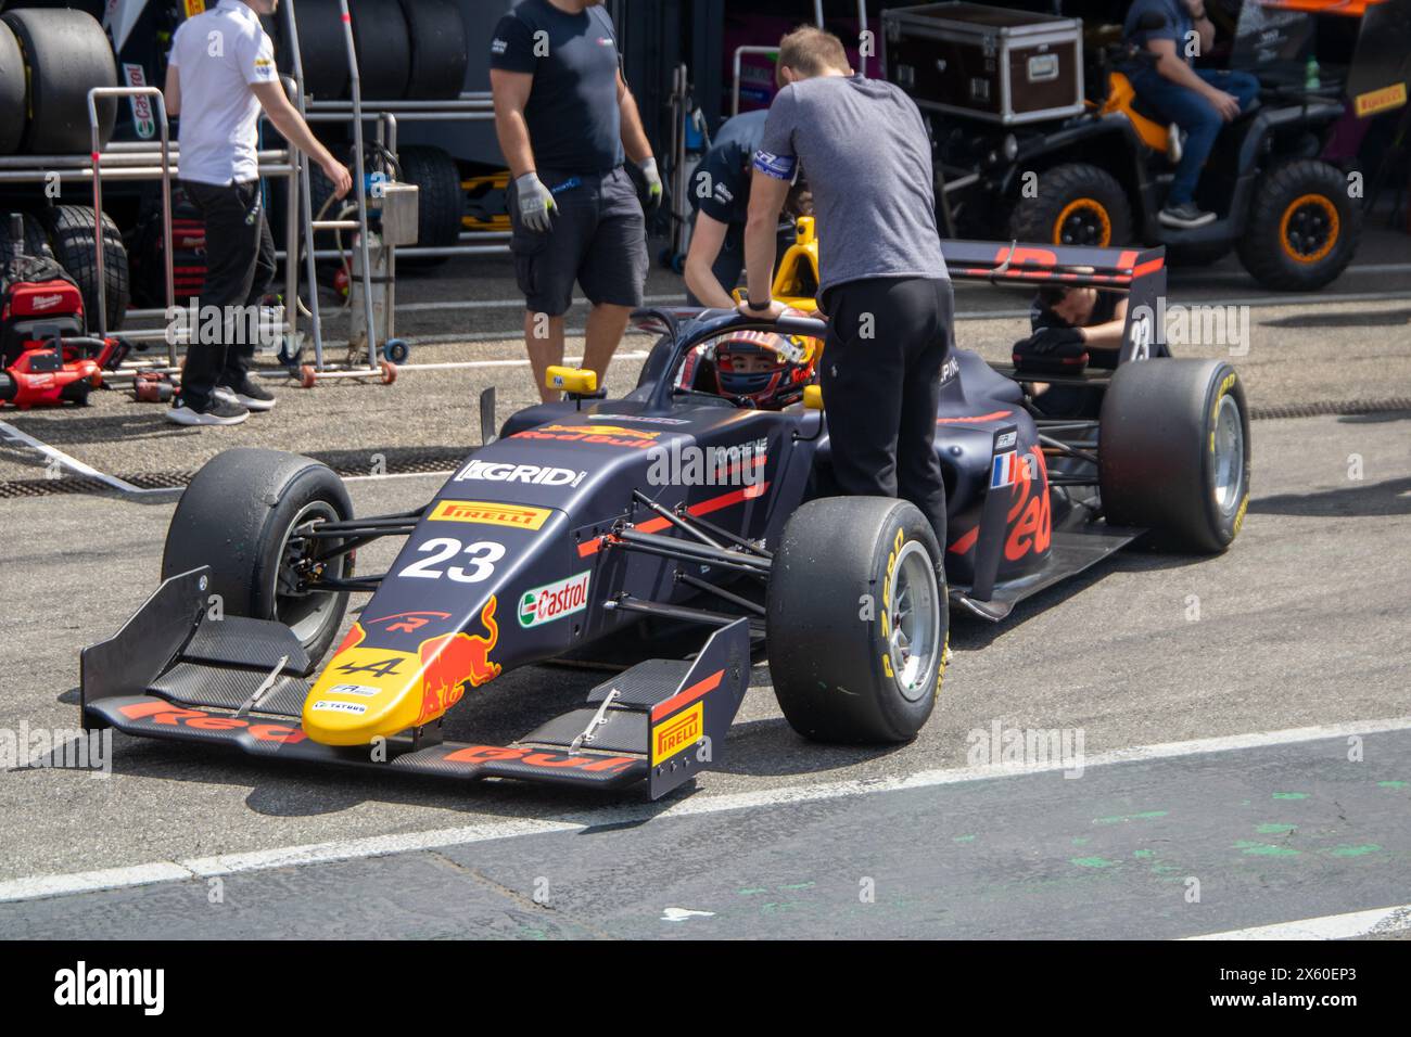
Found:
[[[830,323],[820,382],[835,488],[912,501],[944,550],[934,440],[954,298],[921,113],[892,83],[854,76],[842,44],[823,30],[786,35],[779,65],[790,83],[769,109],[755,155],[749,299],[739,309],[783,309],[769,298],[775,226],[801,164],[818,222],[818,308]]]

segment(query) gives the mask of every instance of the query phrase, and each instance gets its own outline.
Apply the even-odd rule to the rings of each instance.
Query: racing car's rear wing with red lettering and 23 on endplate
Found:
[[[1084,245],[941,241],[952,281],[992,285],[1068,284],[1123,292],[1127,325],[1118,363],[1170,356],[1165,336],[1157,334],[1165,313],[1165,247],[1089,248]]]

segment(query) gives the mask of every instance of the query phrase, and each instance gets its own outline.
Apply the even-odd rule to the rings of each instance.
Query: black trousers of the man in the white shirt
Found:
[[[206,222],[206,284],[200,305],[217,306],[224,333],[219,341],[192,341],[182,371],[182,402],[202,411],[217,385],[238,387],[250,377],[254,341],[231,341],[251,322],[237,320],[229,306],[255,306],[275,275],[274,237],[260,196],[260,181],[248,183],[198,183],[182,181],[186,196]],[[205,322],[200,322],[200,327]],[[258,325],[255,325],[258,326]],[[198,329],[192,329],[193,333]],[[193,337],[196,337],[193,334]]]

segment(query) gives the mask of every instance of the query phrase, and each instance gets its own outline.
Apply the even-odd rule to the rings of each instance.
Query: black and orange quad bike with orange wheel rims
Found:
[[[1366,42],[1359,40],[1349,87],[1366,79]],[[1020,241],[1164,244],[1173,264],[1212,262],[1233,250],[1254,279],[1278,291],[1312,291],[1338,278],[1362,230],[1348,174],[1321,158],[1343,117],[1340,87],[1312,89],[1253,68],[1260,99],[1221,133],[1197,189],[1197,205],[1218,219],[1178,230],[1163,227],[1157,213],[1181,135],[1141,104],[1127,75],[1147,59],[1123,45],[1102,48],[1094,69],[1101,100],[1068,120],[1007,130],[952,120],[937,138],[947,233],[985,233],[1007,222]],[[1362,102],[1355,104],[1360,111]],[[1031,174],[1037,183],[1026,192]]]

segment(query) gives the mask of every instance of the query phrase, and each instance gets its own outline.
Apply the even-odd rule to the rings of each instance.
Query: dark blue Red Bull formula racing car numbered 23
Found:
[[[399,514],[354,515],[308,457],[210,460],[171,521],[161,587],[83,650],[85,724],[444,777],[645,779],[655,799],[720,766],[768,657],[806,738],[913,738],[941,690],[952,607],[1002,619],[1141,536],[1219,552],[1250,481],[1239,375],[1170,358],[1156,333],[1160,250],[945,254],[957,279],[1096,285],[1129,308],[1115,370],[1048,380],[1096,394],[1091,419],[1044,416],[1012,372],[955,350],[935,436],[944,542],[906,501],[825,494],[827,411],[810,384],[823,320],[639,310],[660,340],[636,388],[608,399],[591,372],[550,368],[562,402],[515,413]],[[762,346],[787,365],[741,360]],[[714,375],[683,382],[706,356]],[[358,571],[380,538],[404,540],[395,562]],[[346,626],[353,594],[368,597]],[[547,660],[617,669],[509,745],[443,738],[457,703]]]

